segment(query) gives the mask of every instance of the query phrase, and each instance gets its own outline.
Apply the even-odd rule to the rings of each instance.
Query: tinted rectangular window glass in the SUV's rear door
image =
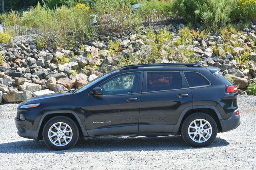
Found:
[[[180,88],[182,88],[180,72],[147,72],[147,92]]]

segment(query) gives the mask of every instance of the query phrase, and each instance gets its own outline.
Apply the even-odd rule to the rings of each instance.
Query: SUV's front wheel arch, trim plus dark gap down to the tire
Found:
[[[56,116],[67,116],[71,118],[78,126],[79,136],[82,136],[82,137],[88,136],[88,133],[85,130],[84,125],[82,124],[82,121],[74,111],[58,110],[58,111],[48,111],[42,115],[38,123],[38,129],[39,129],[38,140],[42,139],[42,131],[46,122]]]

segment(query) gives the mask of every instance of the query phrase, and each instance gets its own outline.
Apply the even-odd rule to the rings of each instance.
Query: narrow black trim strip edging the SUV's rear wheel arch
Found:
[[[212,106],[212,105],[198,105],[198,106],[188,106],[186,107],[181,113],[180,113],[180,116],[178,118],[178,121],[177,121],[177,124],[174,125],[173,127],[173,132],[178,132],[179,131],[179,128],[180,128],[180,123],[184,117],[184,115],[191,109],[205,109],[205,108],[209,108],[209,109],[213,109],[216,113],[217,113],[217,116],[218,116],[218,119],[222,119],[221,115],[220,115],[220,112],[218,111],[218,109],[215,107],[215,106]]]

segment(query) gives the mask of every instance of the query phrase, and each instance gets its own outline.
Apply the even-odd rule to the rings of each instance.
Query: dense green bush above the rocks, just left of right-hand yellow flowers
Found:
[[[174,4],[179,16],[187,22],[221,26],[231,21],[237,0],[176,0]]]

